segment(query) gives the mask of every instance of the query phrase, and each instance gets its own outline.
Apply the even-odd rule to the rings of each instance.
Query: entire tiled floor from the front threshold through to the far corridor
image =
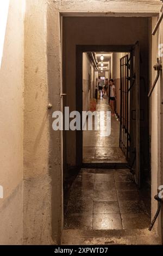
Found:
[[[98,102],[97,110],[107,109],[107,98]],[[83,163],[125,164],[119,130],[119,120],[112,116],[109,137],[103,137],[101,131],[83,131]],[[65,195],[61,244],[160,244],[158,237],[148,231],[148,197],[146,188],[143,193],[137,190],[128,169],[81,169]]]

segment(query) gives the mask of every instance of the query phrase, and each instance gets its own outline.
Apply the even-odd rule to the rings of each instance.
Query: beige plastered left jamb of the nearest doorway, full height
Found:
[[[59,2],[53,1],[47,7],[47,70],[48,70],[48,97],[53,107],[49,111],[50,141],[49,141],[49,173],[52,178],[52,237],[53,241],[60,243],[63,225],[63,184],[62,164],[65,164],[65,155],[62,147],[62,132],[52,130],[52,113],[63,109],[66,96],[62,89],[62,19],[58,12]]]

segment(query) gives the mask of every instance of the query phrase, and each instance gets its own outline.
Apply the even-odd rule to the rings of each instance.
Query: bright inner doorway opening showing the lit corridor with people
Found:
[[[105,136],[102,126],[98,127],[98,131],[95,130],[95,123],[93,130],[83,131],[83,163],[108,163],[119,166],[121,163],[127,164],[130,139],[129,102],[127,102],[129,95],[121,96],[121,86],[122,92],[126,90],[127,93],[129,82],[126,77],[129,77],[129,69],[123,64],[120,68],[120,60],[124,59],[123,57],[129,58],[128,56],[128,53],[117,52],[83,53],[83,111],[97,111],[98,119],[104,118],[104,125],[106,111],[110,111],[111,114],[111,131],[108,136]],[[127,61],[128,59],[126,64]],[[99,90],[101,88],[99,83],[102,84],[102,90]],[[110,88],[115,89],[115,92]],[[112,95],[113,93],[115,95]],[[121,111],[122,100],[126,101],[124,102],[126,106]],[[125,117],[120,119],[122,113]],[[88,125],[87,123],[85,126]]]

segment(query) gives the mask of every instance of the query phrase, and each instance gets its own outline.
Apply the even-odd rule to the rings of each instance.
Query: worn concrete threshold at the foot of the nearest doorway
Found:
[[[161,245],[148,229],[63,230],[62,245]]]

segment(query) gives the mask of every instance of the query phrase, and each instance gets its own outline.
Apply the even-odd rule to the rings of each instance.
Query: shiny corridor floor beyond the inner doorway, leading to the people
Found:
[[[110,110],[108,97],[99,100],[97,111]],[[104,116],[106,119],[106,115]],[[111,116],[111,134],[103,136],[103,131],[83,131],[83,163],[114,162],[126,163],[126,158],[119,148],[120,121]]]

